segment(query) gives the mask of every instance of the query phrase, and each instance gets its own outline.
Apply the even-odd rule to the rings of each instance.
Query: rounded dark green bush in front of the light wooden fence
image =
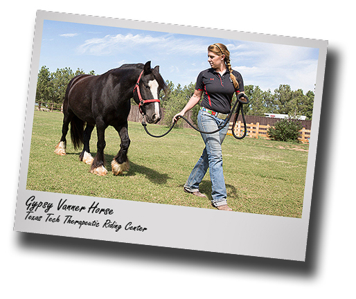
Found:
[[[300,129],[303,129],[303,126],[297,120],[285,118],[275,123],[274,127],[270,127],[267,130],[267,134],[269,135],[269,138],[276,141],[299,142],[298,137],[300,135]]]

